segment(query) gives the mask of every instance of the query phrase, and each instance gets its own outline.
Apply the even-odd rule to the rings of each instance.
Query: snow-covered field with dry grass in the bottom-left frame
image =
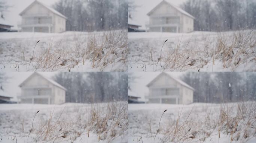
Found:
[[[127,143],[127,118],[127,102],[0,104],[0,143]]]

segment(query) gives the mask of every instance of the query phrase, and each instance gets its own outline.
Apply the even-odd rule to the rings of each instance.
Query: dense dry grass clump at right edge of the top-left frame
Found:
[[[109,64],[115,62],[127,63],[127,32],[104,32],[103,38],[97,38],[95,35],[88,36],[88,45],[86,48],[86,58],[92,61],[92,67],[104,69]],[[119,55],[119,56],[116,56]]]

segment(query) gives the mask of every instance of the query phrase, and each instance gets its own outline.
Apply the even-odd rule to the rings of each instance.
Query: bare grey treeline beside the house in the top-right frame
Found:
[[[195,17],[195,31],[256,27],[256,0],[188,0],[182,8]]]

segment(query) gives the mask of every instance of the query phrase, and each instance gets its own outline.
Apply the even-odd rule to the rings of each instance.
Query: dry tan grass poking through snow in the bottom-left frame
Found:
[[[90,133],[95,133],[98,140],[111,142],[116,137],[124,137],[128,130],[126,102],[94,104],[89,108],[77,107],[73,109],[76,115],[71,114],[70,118],[67,117],[70,115],[67,112],[67,107],[64,107],[61,112],[54,110],[50,111],[45,120],[40,118],[33,120],[34,126],[30,130],[33,141],[70,140],[70,142],[74,142],[77,138],[87,138]]]

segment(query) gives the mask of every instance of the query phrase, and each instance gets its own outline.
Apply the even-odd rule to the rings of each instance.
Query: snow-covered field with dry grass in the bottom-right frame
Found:
[[[128,104],[128,142],[255,143],[255,109],[256,102]]]

